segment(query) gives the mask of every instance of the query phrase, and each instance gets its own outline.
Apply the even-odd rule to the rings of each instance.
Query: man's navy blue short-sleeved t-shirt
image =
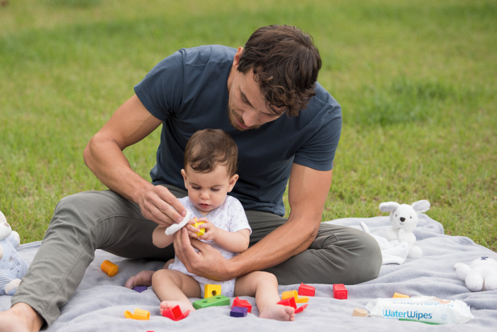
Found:
[[[293,163],[331,170],[340,139],[342,112],[317,85],[298,117],[282,115],[258,129],[240,131],[228,119],[228,75],[236,49],[212,45],[182,48],[157,64],[135,86],[147,110],[163,121],[153,184],[184,188],[186,142],[197,130],[219,128],[238,147],[240,178],[230,195],[245,210],[284,215],[283,194]]]

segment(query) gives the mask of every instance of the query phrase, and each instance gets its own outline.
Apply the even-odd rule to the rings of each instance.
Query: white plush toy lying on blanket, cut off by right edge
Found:
[[[477,258],[469,265],[456,263],[456,275],[464,280],[470,291],[493,291],[497,289],[497,261],[487,256]]]

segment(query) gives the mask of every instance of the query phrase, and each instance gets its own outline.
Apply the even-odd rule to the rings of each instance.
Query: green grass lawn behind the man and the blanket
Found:
[[[309,32],[344,126],[323,219],[428,199],[449,235],[497,251],[497,3],[485,0],[19,0],[0,6],[0,210],[41,240],[59,199],[104,189],[90,137],[158,61]],[[158,132],[125,150],[146,179]]]

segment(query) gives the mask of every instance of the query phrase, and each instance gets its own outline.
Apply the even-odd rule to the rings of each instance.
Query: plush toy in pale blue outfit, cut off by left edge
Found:
[[[16,250],[19,242],[19,234],[12,231],[0,211],[0,295],[14,295],[28,271],[28,263]]]

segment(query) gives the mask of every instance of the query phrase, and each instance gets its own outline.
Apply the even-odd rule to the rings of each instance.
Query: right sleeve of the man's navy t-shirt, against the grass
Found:
[[[295,153],[293,162],[315,170],[333,169],[341,131],[342,110],[333,106],[324,114],[315,133]]]

